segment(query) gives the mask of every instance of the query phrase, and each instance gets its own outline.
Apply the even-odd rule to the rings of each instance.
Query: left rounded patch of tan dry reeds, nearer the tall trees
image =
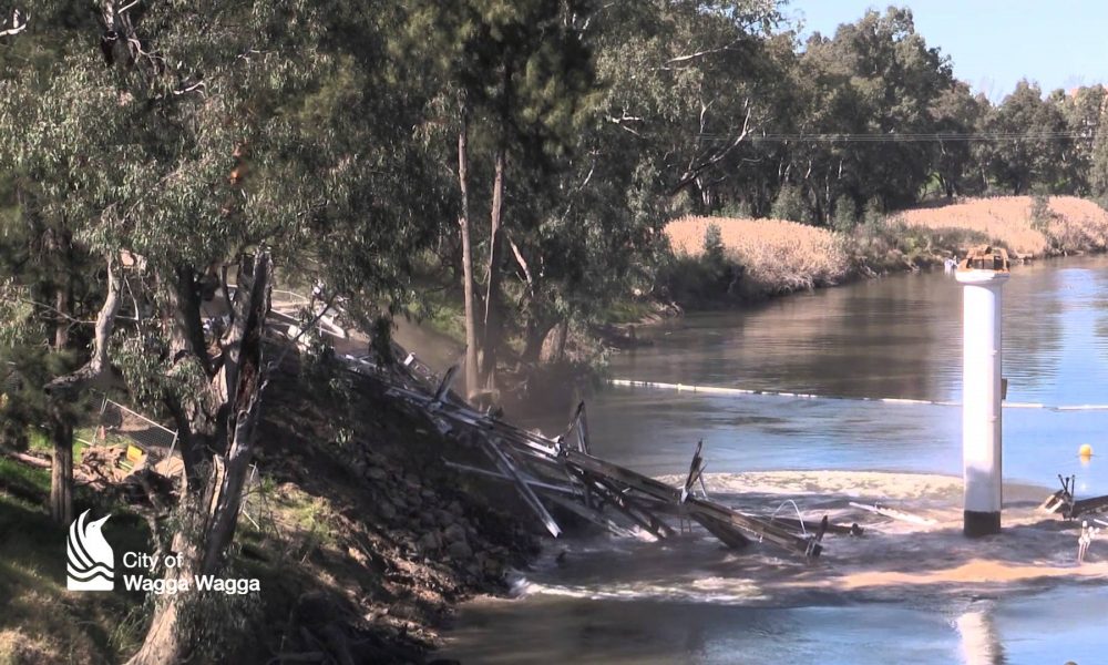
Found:
[[[666,225],[674,252],[691,257],[704,254],[710,224],[719,226],[728,256],[746,269],[745,288],[751,295],[832,285],[850,273],[841,236],[783,219],[683,217]]]

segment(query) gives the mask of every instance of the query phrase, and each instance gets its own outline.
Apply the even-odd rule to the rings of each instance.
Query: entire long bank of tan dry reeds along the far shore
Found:
[[[719,234],[708,238],[712,225]],[[687,216],[670,222],[666,235],[674,252],[665,274],[670,296],[705,307],[941,265],[982,243],[1020,258],[1102,252],[1108,212],[1073,196],[1004,196],[902,211],[841,232],[784,219]]]

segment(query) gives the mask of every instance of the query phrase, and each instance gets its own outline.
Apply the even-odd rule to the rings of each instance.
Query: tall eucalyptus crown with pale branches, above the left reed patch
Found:
[[[777,2],[609,2],[598,10],[597,71],[608,122],[634,136],[671,197],[718,207],[750,139],[772,120],[781,71],[766,38]]]

